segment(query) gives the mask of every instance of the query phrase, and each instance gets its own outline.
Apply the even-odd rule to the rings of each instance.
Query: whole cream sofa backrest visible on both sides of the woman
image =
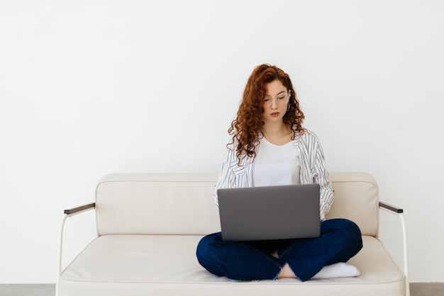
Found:
[[[118,173],[96,186],[99,235],[220,231],[213,203],[216,173]],[[335,202],[327,219],[345,217],[377,235],[378,190],[367,173],[331,173]]]

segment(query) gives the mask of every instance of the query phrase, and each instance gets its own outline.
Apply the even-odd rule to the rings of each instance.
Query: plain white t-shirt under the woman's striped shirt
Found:
[[[299,147],[294,141],[275,145],[262,137],[252,169],[253,186],[276,186],[301,183]]]

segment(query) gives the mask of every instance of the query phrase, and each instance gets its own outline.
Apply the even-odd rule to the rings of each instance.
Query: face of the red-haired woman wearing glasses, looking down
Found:
[[[287,112],[289,102],[288,89],[279,80],[274,80],[265,86],[267,95],[264,98],[265,123],[282,121]]]

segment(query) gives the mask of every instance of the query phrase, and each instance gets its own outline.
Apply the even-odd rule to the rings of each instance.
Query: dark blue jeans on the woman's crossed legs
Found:
[[[347,262],[360,249],[359,227],[350,220],[333,219],[321,222],[321,236],[311,239],[223,241],[221,232],[209,234],[199,241],[196,256],[210,273],[234,280],[274,280],[288,263],[304,281],[323,266]]]

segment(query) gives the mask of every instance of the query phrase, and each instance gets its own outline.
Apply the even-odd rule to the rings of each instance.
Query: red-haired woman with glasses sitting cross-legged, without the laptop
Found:
[[[321,145],[302,127],[304,113],[289,76],[262,64],[248,79],[237,118],[228,130],[218,188],[318,183],[321,186],[321,236],[313,239],[223,241],[221,233],[199,241],[196,256],[215,275],[235,280],[333,278],[357,276],[345,262],[362,249],[357,225],[349,220],[325,220],[333,203],[333,188]]]

